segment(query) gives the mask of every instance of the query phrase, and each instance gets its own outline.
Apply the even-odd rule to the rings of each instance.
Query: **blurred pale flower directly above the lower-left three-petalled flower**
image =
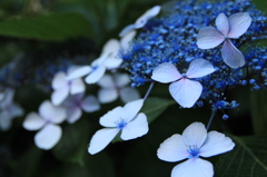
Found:
[[[80,94],[86,90],[86,86],[80,78],[73,80],[67,80],[67,77],[71,75],[75,68],[70,68],[68,73],[59,71],[52,79],[53,92],[51,95],[51,101],[53,105],[59,106],[68,96]]]

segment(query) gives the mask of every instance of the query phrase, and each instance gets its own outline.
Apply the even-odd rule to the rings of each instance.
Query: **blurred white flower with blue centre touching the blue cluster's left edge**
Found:
[[[117,55],[120,49],[120,42],[117,39],[110,39],[103,46],[102,52],[98,59],[92,61],[91,66],[83,66],[76,69],[69,77],[68,80],[86,77],[87,83],[96,83],[105,75],[107,69],[118,68],[122,59],[118,58]]]

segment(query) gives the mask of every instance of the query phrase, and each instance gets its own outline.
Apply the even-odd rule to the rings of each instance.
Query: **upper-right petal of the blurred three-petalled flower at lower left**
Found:
[[[40,116],[48,121],[60,124],[67,117],[66,109],[60,106],[53,106],[50,101],[46,100],[39,107]]]

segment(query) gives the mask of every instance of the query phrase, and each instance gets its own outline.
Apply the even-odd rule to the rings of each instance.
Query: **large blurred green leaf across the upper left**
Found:
[[[32,18],[0,21],[0,36],[62,41],[78,37],[90,37],[87,19],[75,12],[50,13]]]

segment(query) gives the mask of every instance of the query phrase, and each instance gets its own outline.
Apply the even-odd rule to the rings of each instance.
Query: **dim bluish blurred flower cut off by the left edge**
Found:
[[[22,116],[23,109],[16,102],[13,102],[14,90],[4,90],[0,99],[0,128],[6,131],[11,127],[12,119],[14,117]]]

